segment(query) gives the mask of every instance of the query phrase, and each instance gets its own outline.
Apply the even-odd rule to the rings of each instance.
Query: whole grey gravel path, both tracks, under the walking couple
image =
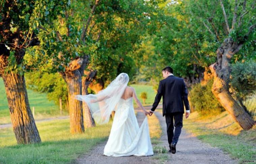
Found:
[[[158,108],[162,109],[162,105],[159,105]],[[145,107],[146,110],[149,110],[150,107]],[[165,117],[162,116],[162,113],[154,113],[162,126],[163,135],[161,136],[162,146],[166,147],[169,150],[167,132],[166,132],[166,122]],[[144,115],[141,112],[137,113],[137,120],[139,125],[141,125]],[[107,157],[103,156],[104,147],[106,142],[103,142],[93,148],[88,154],[82,155],[77,159],[76,163],[86,163],[86,164],[158,164],[159,161],[153,159],[152,157]],[[228,154],[224,153],[219,148],[211,147],[207,143],[203,143],[191,133],[187,133],[184,128],[181,130],[179,141],[176,146],[177,152],[175,154],[168,153],[169,160],[165,163],[170,164],[236,164],[237,160],[233,160],[229,157]]]

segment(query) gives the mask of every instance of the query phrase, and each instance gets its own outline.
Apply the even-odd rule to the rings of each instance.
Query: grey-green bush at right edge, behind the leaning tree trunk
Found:
[[[243,100],[253,95],[256,91],[256,63],[251,60],[233,64],[230,85],[234,94]]]

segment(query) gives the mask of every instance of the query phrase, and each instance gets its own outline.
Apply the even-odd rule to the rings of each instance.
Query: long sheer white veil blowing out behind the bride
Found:
[[[120,73],[107,88],[99,91],[97,94],[75,95],[80,101],[85,101],[88,105],[92,117],[98,124],[105,124],[109,121],[111,112],[115,109],[123,92],[129,82],[129,76],[126,73]],[[95,101],[95,102],[91,102]]]

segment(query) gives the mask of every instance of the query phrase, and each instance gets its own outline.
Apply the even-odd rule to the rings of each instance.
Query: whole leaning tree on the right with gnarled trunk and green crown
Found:
[[[165,11],[175,21],[153,38],[155,53],[148,66],[160,70],[171,65],[175,74],[189,76],[191,81],[199,78],[196,82],[204,71],[211,70],[215,79],[212,92],[243,129],[250,129],[254,121],[231,96],[229,81],[231,63],[255,56],[255,2],[169,1]]]

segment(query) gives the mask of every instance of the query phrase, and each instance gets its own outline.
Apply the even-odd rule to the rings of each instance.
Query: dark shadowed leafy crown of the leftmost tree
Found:
[[[37,3],[34,0],[0,2],[0,55],[7,57],[7,67],[4,72],[23,75],[30,71],[26,59],[23,59],[28,49],[36,48],[39,41],[33,18]],[[44,21],[42,21],[44,23]],[[33,65],[45,63],[42,58],[34,60]],[[4,62],[4,61],[3,61]]]

